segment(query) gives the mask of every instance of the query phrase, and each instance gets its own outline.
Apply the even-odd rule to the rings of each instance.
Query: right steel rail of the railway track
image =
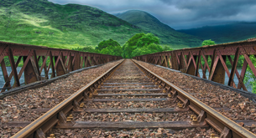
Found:
[[[220,114],[219,112],[217,112],[217,110],[213,110],[210,106],[202,103],[200,100],[197,100],[194,96],[189,95],[184,90],[175,86],[175,84],[172,84],[168,80],[163,79],[157,74],[154,74],[149,69],[146,69],[143,65],[138,64],[136,60],[133,59],[133,62],[137,64],[138,67],[149,76],[149,78],[154,79],[157,84],[165,86],[165,88],[169,86],[170,89],[166,89],[167,92],[172,93],[171,91],[175,91],[173,93],[173,96],[176,96],[184,103],[188,103],[187,106],[191,110],[195,111],[197,115],[199,115],[197,119],[201,120],[201,122],[212,125],[215,130],[221,133],[221,137],[256,137],[256,135],[254,135],[251,131],[246,130],[245,128],[243,128],[243,126],[238,125],[233,120],[229,120],[226,116]],[[185,102],[185,100],[187,101]]]

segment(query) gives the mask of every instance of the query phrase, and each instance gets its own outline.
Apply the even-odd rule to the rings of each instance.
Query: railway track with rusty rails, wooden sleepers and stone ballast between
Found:
[[[60,137],[63,133],[70,137],[129,137],[135,135],[117,132],[136,129],[151,130],[149,135],[137,135],[142,137],[168,137],[187,129],[197,130],[194,136],[199,137],[256,137],[136,60],[129,59],[79,89],[13,137]],[[116,131],[112,135],[106,130]]]

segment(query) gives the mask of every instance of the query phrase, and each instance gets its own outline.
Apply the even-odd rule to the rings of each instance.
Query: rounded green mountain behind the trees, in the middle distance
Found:
[[[144,11],[130,10],[125,13],[115,14],[115,16],[142,28],[149,33],[154,33],[154,35],[161,38],[161,43],[193,47],[200,46],[202,42],[200,38],[175,31],[175,29],[161,23],[157,18]]]

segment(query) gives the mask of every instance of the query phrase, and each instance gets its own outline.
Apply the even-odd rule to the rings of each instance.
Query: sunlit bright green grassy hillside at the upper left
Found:
[[[145,32],[100,9],[47,0],[0,0],[0,41],[72,49]]]

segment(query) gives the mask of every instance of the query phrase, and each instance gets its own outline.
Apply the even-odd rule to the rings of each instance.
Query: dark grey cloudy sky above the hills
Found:
[[[148,12],[175,29],[256,22],[256,0],[49,0],[100,8],[107,13]]]

